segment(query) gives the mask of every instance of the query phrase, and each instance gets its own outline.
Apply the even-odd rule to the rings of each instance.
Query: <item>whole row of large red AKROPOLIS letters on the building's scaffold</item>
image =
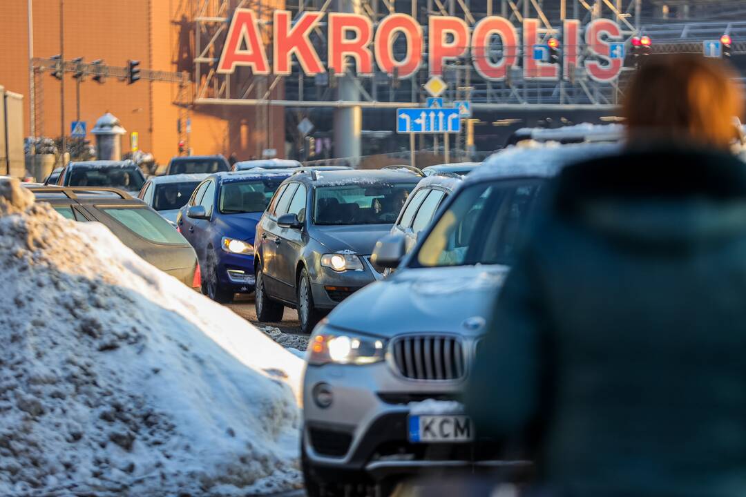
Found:
[[[326,72],[319,54],[310,39],[311,31],[327,15],[319,12],[303,13],[292,22],[288,10],[273,13],[272,67],[262,42],[257,17],[252,10],[236,9],[228,36],[223,45],[217,72],[230,74],[236,67],[250,67],[257,75],[289,75],[291,57],[308,76]],[[539,19],[524,19],[521,37],[518,29],[504,17],[487,16],[469,28],[463,19],[454,16],[431,16],[428,25],[429,47],[424,54],[421,25],[412,16],[393,13],[378,23],[374,32],[372,21],[355,13],[329,13],[327,16],[327,66],[336,74],[345,72],[354,61],[357,75],[372,75],[374,64],[389,75],[407,78],[414,75],[427,57],[430,75],[442,75],[449,60],[456,60],[471,51],[474,69],[486,80],[500,81],[507,77],[510,66],[523,57],[523,75],[529,80],[556,80],[560,77],[557,64],[533,59],[533,45],[539,42]],[[586,56],[583,65],[589,77],[609,82],[621,72],[623,61],[612,59],[610,42],[621,39],[621,28],[610,19],[595,19],[586,25],[584,42]],[[396,58],[393,45],[399,36],[406,39],[406,55]],[[502,54],[498,60],[488,52],[491,40],[500,37]],[[568,79],[570,69],[580,60],[580,21],[567,19],[562,24],[562,77]]]

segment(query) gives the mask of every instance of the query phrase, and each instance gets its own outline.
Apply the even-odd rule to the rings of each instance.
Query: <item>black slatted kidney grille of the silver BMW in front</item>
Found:
[[[466,376],[460,338],[447,335],[407,336],[392,342],[394,364],[401,376],[452,381]]]

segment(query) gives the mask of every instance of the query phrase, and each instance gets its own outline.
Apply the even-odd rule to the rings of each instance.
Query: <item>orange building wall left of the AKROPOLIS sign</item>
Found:
[[[59,1],[34,0],[34,55],[60,53]],[[186,17],[195,7],[186,0],[66,0],[65,58],[104,59],[111,66],[140,60],[141,69],[178,71],[191,75],[193,28]],[[30,134],[28,31],[26,0],[4,0],[0,16],[0,84],[25,97],[25,134]],[[42,112],[37,135],[60,136],[60,82],[49,73],[37,78],[37,106]],[[75,80],[65,80],[65,130],[75,119]],[[194,89],[189,87],[189,101]],[[81,119],[89,130],[105,112],[113,113],[128,132],[140,134],[140,148],[165,163],[178,153],[178,85],[140,80],[133,85],[108,78],[81,83]],[[254,125],[253,107],[210,105],[189,111],[193,153],[235,152],[239,159],[258,156],[263,146],[284,152],[283,110],[272,112],[269,130]],[[268,134],[269,132],[269,134]],[[93,136],[89,134],[89,139]],[[122,150],[129,151],[125,136]]]

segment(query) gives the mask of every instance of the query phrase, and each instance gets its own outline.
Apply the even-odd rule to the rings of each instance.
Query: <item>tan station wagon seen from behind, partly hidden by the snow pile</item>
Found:
[[[51,203],[63,218],[98,221],[151,265],[185,285],[200,285],[194,249],[142,200],[116,189],[58,186],[30,186],[28,189],[34,192],[37,200]]]

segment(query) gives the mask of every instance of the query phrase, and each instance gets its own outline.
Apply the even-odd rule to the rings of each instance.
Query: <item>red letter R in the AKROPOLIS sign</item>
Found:
[[[355,34],[347,38],[348,31]],[[348,13],[329,14],[329,68],[337,74],[347,69],[347,57],[352,57],[357,74],[373,74],[373,54],[369,45],[373,40],[373,23],[366,16]]]

